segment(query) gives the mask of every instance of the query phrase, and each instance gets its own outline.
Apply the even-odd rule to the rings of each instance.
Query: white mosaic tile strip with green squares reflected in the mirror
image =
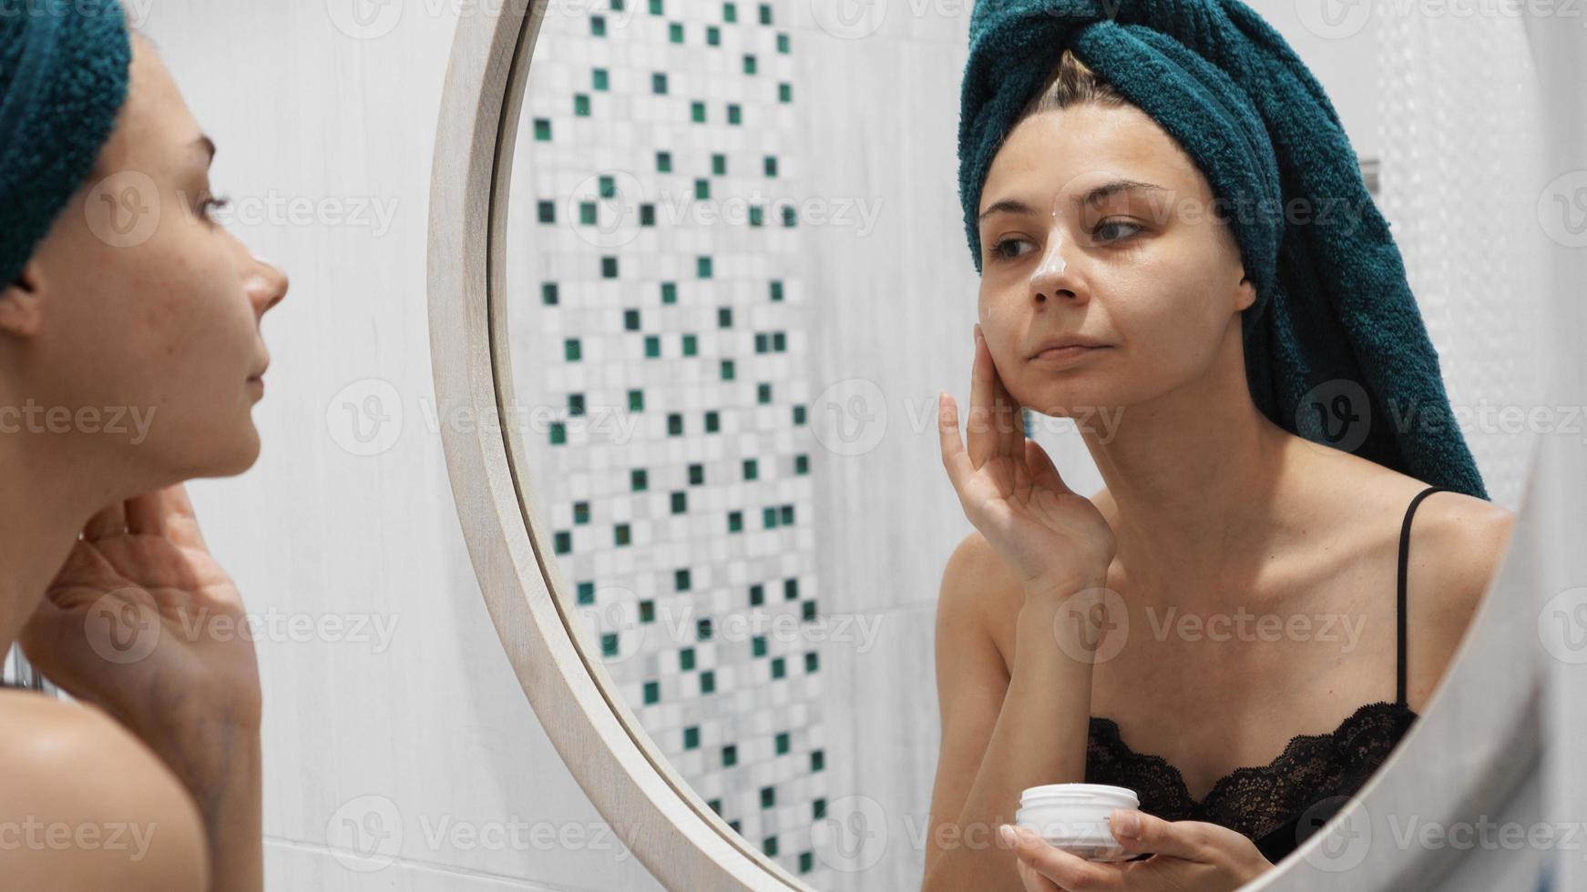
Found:
[[[535,510],[628,707],[820,886],[819,616],[787,3],[552,5],[509,230]],[[778,624],[773,624],[778,623]]]

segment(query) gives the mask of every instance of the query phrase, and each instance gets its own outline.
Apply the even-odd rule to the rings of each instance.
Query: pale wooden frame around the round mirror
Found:
[[[492,296],[503,293],[506,195],[544,13],[546,0],[503,0],[471,6],[457,24],[430,187],[430,349],[443,420],[500,420],[509,417],[500,406],[514,406],[506,307]],[[441,439],[497,634],[535,715],[601,816],[668,889],[809,890],[690,789],[617,696],[600,656],[582,646],[549,534],[525,507],[533,477],[514,461],[527,455],[519,431],[443,423]],[[1544,658],[1528,567],[1543,547],[1543,442],[1504,561],[1425,715],[1327,827],[1246,889],[1331,890],[1341,870],[1363,892],[1430,887],[1465,852],[1397,851],[1387,818],[1414,813],[1446,827],[1470,821],[1535,770]],[[1373,843],[1355,867],[1324,849],[1347,827]]]

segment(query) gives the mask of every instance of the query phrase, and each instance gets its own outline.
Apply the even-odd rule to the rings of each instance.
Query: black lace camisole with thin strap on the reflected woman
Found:
[[[1400,526],[1395,702],[1363,703],[1331,734],[1290,738],[1278,759],[1235,768],[1201,802],[1190,797],[1178,768],[1160,756],[1130,749],[1112,719],[1092,716],[1086,783],[1128,787],[1139,797],[1141,811],[1165,821],[1206,821],[1238,830],[1273,863],[1295,851],[1366,784],[1417,718],[1404,700],[1404,569],[1411,515],[1439,490],[1446,488],[1417,493]]]

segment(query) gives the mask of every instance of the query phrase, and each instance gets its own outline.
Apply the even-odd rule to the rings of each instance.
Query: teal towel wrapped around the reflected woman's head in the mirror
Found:
[[[976,271],[992,158],[1070,49],[1173,136],[1227,209],[1257,290],[1246,374],[1276,425],[1487,499],[1400,249],[1322,86],[1239,0],[979,0],[959,195]]]

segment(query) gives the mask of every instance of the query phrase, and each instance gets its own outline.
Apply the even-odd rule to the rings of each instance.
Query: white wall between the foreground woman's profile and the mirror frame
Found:
[[[600,816],[508,667],[424,414],[433,406],[425,203],[457,5],[387,5],[400,14],[389,33],[381,17],[352,27],[341,0],[141,8],[219,143],[213,179],[233,200],[235,230],[292,276],[263,326],[273,356],[256,410],[263,455],[241,478],[192,486],[249,610],[327,629],[294,640],[278,623],[259,642],[268,887],[654,887],[609,830],[597,835]],[[352,215],[355,200],[395,206],[389,231]],[[305,206],[297,219],[294,201]],[[402,429],[386,452],[360,456],[338,442],[360,448],[333,433],[346,428],[329,425],[327,410],[346,418],[343,404],[362,406],[357,388],[371,385],[359,382],[371,379],[394,388],[376,414],[400,414]],[[359,635],[360,621],[394,627],[389,646],[371,629]],[[376,859],[348,860],[376,870],[327,849],[357,841],[349,818],[371,829],[363,844]],[[578,851],[548,848],[546,830],[530,827],[501,848],[513,821],[551,822],[549,838]]]

